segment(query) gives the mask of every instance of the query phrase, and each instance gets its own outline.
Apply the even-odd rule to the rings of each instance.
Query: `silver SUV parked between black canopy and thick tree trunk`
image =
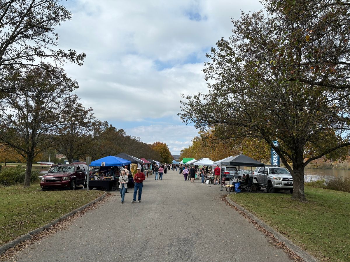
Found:
[[[279,190],[289,190],[293,193],[293,177],[285,167],[257,167],[253,172],[253,178],[258,182],[258,190],[266,188],[268,193]]]

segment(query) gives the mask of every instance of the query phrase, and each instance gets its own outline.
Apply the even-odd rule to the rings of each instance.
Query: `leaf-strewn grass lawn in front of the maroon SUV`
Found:
[[[0,188],[0,245],[89,203],[102,191],[50,190],[39,184]]]

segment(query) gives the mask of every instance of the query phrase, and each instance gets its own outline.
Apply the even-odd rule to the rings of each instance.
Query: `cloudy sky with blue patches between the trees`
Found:
[[[71,21],[57,28],[59,48],[85,52],[66,64],[78,96],[95,116],[145,143],[180,154],[198,133],[184,125],[180,94],[207,92],[205,54],[231,35],[231,17],[261,8],[258,0],[68,0]]]

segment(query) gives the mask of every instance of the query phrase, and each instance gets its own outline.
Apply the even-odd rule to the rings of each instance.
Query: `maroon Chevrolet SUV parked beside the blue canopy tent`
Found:
[[[52,188],[70,188],[75,190],[77,185],[84,184],[86,169],[87,166],[83,162],[56,166],[51,173],[42,176],[40,187],[42,190]]]

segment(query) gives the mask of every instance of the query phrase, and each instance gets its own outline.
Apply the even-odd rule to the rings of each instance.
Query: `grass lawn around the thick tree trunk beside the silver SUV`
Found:
[[[230,197],[320,260],[350,261],[350,193],[306,186],[305,195],[306,204],[290,194]]]

